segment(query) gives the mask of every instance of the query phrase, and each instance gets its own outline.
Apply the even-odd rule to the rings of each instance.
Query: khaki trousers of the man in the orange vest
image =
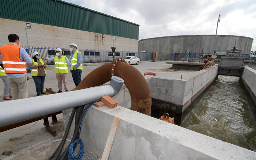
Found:
[[[12,88],[12,99],[28,98],[28,80],[27,75],[20,78],[8,78]]]

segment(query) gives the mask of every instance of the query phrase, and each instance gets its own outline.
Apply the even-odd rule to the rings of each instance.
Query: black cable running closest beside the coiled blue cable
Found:
[[[87,109],[92,105],[93,103],[90,103],[88,104],[84,110],[83,110],[83,113],[80,114],[81,117],[79,117],[79,122],[77,123],[78,126],[75,127],[75,130],[74,130],[74,134],[73,134],[73,137],[71,139],[71,142],[69,143],[68,147],[65,149],[65,151],[58,157],[58,159],[68,159],[68,149],[70,147],[70,145],[76,140],[77,136],[78,136],[78,133],[79,133],[79,125],[81,124],[81,121],[83,120],[83,115],[86,113]],[[75,148],[74,148],[75,149]]]

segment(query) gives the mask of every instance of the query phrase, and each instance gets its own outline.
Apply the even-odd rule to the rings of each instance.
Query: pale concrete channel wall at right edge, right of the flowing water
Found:
[[[251,88],[254,95],[256,95],[256,70],[250,67],[244,67],[242,78],[245,83]]]

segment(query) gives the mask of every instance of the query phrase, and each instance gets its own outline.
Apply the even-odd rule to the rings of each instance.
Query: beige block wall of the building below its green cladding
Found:
[[[8,44],[8,35],[15,33],[20,37],[20,45],[27,46],[26,23],[31,24],[31,29],[27,29],[29,46],[69,48],[69,44],[75,43],[81,49],[111,50],[113,47],[111,35],[104,34],[102,39],[99,33],[3,18],[0,18],[0,45]],[[116,51],[138,52],[138,40],[115,37]]]

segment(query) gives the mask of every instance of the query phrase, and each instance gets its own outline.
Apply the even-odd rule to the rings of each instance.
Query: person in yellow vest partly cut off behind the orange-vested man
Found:
[[[2,68],[1,66],[0,66],[0,78],[4,82],[4,100],[11,100],[12,89],[10,87],[9,80],[4,72],[4,68]],[[9,97],[8,97],[8,93],[9,93]]]

